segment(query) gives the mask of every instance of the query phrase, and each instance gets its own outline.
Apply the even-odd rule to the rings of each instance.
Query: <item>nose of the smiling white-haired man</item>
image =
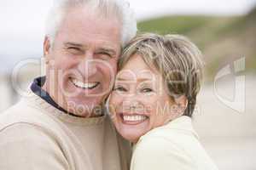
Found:
[[[96,61],[93,57],[93,54],[85,54],[84,59],[82,59],[79,63],[79,71],[86,78],[92,77],[96,74]]]

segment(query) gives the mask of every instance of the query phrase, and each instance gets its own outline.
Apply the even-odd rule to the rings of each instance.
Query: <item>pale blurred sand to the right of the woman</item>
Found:
[[[256,169],[255,85],[256,78],[248,76],[243,112],[224,105],[214,94],[213,86],[204,87],[199,95],[201,111],[194,117],[195,129],[220,170]],[[219,88],[226,94],[233,91],[232,82]]]

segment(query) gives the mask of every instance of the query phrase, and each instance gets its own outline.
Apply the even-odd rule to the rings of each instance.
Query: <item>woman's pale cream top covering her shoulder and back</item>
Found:
[[[218,170],[201,146],[189,116],[181,116],[139,139],[131,170]]]

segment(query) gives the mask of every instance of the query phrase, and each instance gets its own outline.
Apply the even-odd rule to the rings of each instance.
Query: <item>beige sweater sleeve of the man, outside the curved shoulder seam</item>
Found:
[[[0,129],[0,167],[31,169],[37,166],[35,168],[68,169],[65,156],[67,152],[63,151],[68,147],[59,140],[57,133],[50,131],[50,127],[44,128],[36,123],[17,120],[3,124],[1,119],[1,123],[3,128]]]

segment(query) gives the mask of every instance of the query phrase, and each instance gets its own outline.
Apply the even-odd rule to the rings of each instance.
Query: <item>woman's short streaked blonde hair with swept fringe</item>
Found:
[[[134,54],[139,54],[148,66],[160,71],[172,99],[182,95],[188,99],[183,115],[192,116],[196,95],[201,88],[203,68],[201,51],[195,44],[180,35],[138,35],[125,47],[119,59],[119,70]]]

